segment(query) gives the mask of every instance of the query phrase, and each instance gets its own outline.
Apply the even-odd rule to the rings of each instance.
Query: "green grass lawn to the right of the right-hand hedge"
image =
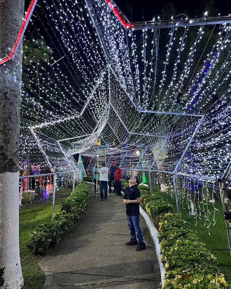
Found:
[[[174,211],[176,212],[176,204],[175,198],[172,197],[170,194],[166,192],[160,192],[162,196],[168,199],[170,204],[173,205]],[[211,212],[210,220],[212,220],[213,216],[213,207],[212,204],[209,203],[209,210]],[[217,258],[219,264],[226,264],[231,265],[231,257],[229,250],[216,250],[216,249],[223,249],[229,248],[228,240],[227,240],[227,233],[225,228],[225,221],[223,216],[223,210],[220,203],[214,204],[214,206],[218,209],[215,213],[215,221],[216,224],[213,227],[212,224],[210,226],[210,235],[208,233],[208,229],[204,226],[204,220],[199,220],[197,218],[197,225],[195,226],[196,222],[193,216],[189,216],[188,209],[183,209],[180,206],[180,211],[182,217],[188,221],[193,229],[196,230],[197,236],[205,243],[206,248],[208,248]],[[186,206],[185,206],[186,207]],[[220,271],[225,275],[227,282],[231,283],[231,266],[219,266]]]

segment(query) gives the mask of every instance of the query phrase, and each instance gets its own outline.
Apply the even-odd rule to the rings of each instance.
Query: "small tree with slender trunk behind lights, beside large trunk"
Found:
[[[41,62],[50,62],[53,54],[52,48],[46,46],[45,42],[41,39],[35,41],[26,40],[23,45],[23,64],[25,66],[30,66],[33,63],[36,64],[36,77],[38,85],[38,96],[39,96],[39,107],[41,101],[41,85],[40,85],[40,75],[39,75],[39,64]],[[39,110],[37,113],[37,120],[39,117]]]

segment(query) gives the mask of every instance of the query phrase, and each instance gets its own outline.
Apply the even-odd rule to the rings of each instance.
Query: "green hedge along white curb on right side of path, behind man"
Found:
[[[123,181],[122,187],[128,186]],[[199,240],[188,222],[173,213],[168,200],[143,186],[138,186],[141,206],[147,211],[159,232],[161,261],[165,267],[164,289],[229,288],[219,273],[216,258]]]

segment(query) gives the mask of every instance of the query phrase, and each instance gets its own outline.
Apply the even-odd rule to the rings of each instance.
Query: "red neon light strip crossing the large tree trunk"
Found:
[[[37,0],[31,0],[30,5],[29,5],[29,7],[28,7],[28,9],[27,9],[27,11],[26,11],[26,15],[25,15],[25,17],[24,17],[24,19],[23,19],[23,21],[22,21],[22,23],[21,23],[21,26],[20,26],[20,29],[19,29],[19,33],[18,33],[18,35],[17,35],[16,41],[15,41],[15,43],[14,43],[14,46],[12,47],[10,53],[9,53],[6,57],[4,57],[3,59],[0,59],[0,64],[3,64],[3,63],[5,63],[5,62],[9,61],[10,59],[12,59],[12,57],[13,57],[14,54],[16,53],[16,49],[17,49],[17,46],[18,46],[18,44],[19,44],[19,41],[20,41],[22,35],[23,35],[24,32],[25,32],[25,31],[24,31],[24,27],[25,27],[25,25],[27,24],[27,22],[30,20],[30,18],[29,18],[30,13],[33,12],[33,11],[32,11],[32,8],[33,8],[35,2],[37,2]],[[31,14],[32,14],[32,13],[31,13]]]

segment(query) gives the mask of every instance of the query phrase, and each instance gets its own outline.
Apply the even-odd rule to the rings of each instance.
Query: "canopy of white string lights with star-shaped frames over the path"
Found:
[[[230,161],[229,23],[126,29],[104,0],[42,0],[34,15],[26,38],[54,53],[23,64],[22,162],[75,170],[72,155],[96,157],[100,138],[109,165],[222,174]]]

